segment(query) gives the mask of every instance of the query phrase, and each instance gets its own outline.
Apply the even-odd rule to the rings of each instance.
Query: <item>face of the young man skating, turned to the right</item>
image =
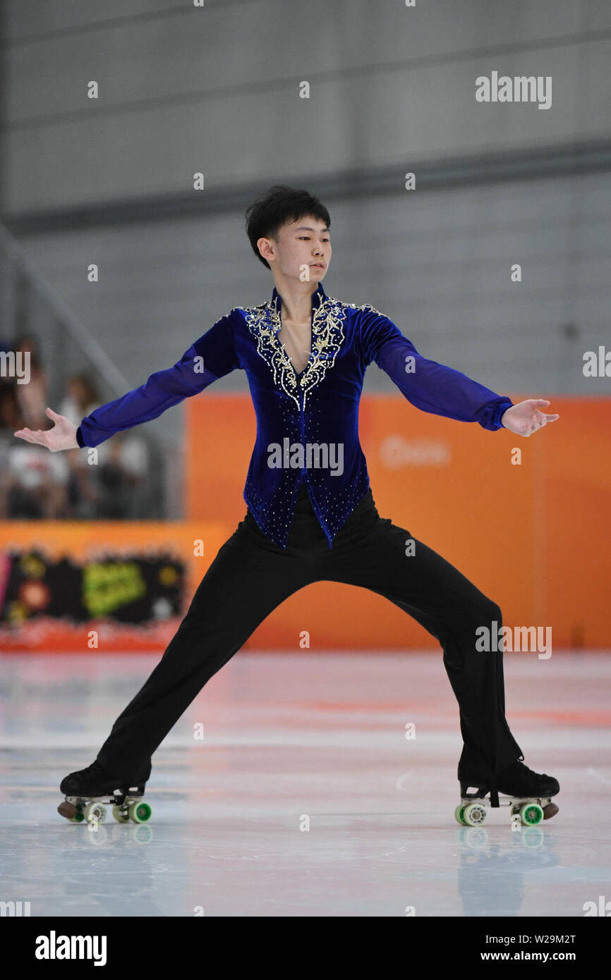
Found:
[[[302,282],[322,279],[331,262],[331,237],[325,224],[318,218],[299,218],[282,224],[278,241],[260,238],[264,259],[272,270],[280,271],[286,278]]]

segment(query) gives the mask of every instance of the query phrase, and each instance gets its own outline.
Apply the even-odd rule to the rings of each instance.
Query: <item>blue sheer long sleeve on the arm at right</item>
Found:
[[[417,409],[457,421],[477,421],[490,431],[502,428],[500,419],[513,405],[510,398],[459,370],[424,358],[392,320],[373,307],[364,310],[360,331],[365,367],[375,361]]]

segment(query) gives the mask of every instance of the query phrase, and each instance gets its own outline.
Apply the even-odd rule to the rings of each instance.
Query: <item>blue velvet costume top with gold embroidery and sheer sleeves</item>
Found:
[[[257,417],[244,500],[263,533],[285,548],[304,481],[331,548],[369,488],[358,412],[363,377],[372,361],[423,412],[478,421],[495,431],[513,404],[466,374],[422,357],[374,307],[334,299],[322,283],[312,293],[310,358],[297,374],[278,338],[280,310],[276,289],[267,303],[234,307],[173,368],[151,374],[139,388],[83,418],[76,431],[78,445],[97,446],[242,368]],[[309,452],[308,444],[314,446]]]

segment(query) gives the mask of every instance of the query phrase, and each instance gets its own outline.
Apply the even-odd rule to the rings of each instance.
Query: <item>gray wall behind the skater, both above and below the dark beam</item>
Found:
[[[316,192],[348,171],[396,172],[394,195],[326,198],[327,291],[372,303],[423,354],[501,393],[606,392],[581,358],[608,335],[610,176],[554,176],[553,158],[610,139],[610,5],[8,0],[5,28],[9,223],[168,200],[196,171],[211,199],[253,182]],[[475,79],[492,70],[551,75],[552,108],[479,104]],[[435,162],[546,147],[549,174],[536,179],[402,189],[404,172]],[[135,386],[232,306],[270,295],[242,211],[30,230],[23,244]],[[215,389],[245,390],[245,378]],[[394,389],[374,366],[366,390]],[[180,409],[151,425],[178,433]]]

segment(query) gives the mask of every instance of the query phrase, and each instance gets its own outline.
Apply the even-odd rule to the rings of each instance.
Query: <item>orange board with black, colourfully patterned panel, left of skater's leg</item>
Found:
[[[218,520],[0,522],[0,652],[165,650],[226,537]]]

